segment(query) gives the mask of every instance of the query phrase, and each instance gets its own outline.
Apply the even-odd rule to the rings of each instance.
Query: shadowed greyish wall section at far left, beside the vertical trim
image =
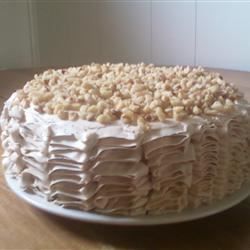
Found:
[[[0,68],[32,65],[28,1],[0,1]]]

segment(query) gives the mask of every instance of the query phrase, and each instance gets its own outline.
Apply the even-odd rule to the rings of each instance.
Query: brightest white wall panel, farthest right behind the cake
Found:
[[[197,64],[250,71],[250,1],[197,4]]]

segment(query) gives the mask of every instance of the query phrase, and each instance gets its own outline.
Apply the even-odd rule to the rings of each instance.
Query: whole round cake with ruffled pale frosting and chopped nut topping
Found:
[[[201,67],[91,64],[35,75],[1,114],[3,166],[64,208],[157,215],[249,181],[249,106]]]

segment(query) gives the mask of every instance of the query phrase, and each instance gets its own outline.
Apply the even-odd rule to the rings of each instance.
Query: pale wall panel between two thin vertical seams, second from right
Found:
[[[152,2],[152,61],[195,65],[195,2]]]

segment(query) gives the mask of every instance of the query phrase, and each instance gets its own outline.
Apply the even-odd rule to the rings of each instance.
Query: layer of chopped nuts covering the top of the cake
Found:
[[[17,91],[16,101],[66,120],[122,120],[147,127],[154,121],[230,113],[241,98],[222,76],[201,67],[93,63],[35,75]]]

